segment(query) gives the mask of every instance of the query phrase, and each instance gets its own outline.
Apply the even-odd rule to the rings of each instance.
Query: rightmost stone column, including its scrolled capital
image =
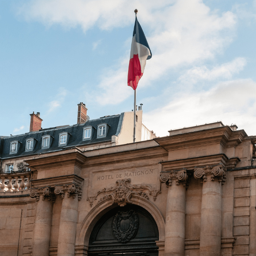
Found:
[[[200,227],[200,256],[221,255],[222,165],[194,169],[195,178],[203,178]]]

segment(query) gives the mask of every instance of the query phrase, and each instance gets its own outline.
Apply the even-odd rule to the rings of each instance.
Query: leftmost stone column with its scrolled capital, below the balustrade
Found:
[[[31,190],[31,197],[36,197],[37,208],[33,237],[33,256],[48,256],[52,229],[52,191],[50,187]]]

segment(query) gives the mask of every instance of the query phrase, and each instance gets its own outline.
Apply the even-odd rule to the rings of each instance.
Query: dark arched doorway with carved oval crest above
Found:
[[[103,215],[94,226],[88,256],[158,256],[157,225],[144,208],[127,204]]]

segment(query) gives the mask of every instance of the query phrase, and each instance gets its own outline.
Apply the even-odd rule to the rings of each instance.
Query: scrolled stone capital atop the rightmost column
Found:
[[[216,166],[206,166],[203,168],[195,167],[194,177],[196,179],[202,178],[203,181],[206,182],[207,176],[211,176],[211,181],[214,181],[215,178],[218,178],[218,181],[221,182],[221,184],[224,184],[226,178],[225,168],[221,164]]]

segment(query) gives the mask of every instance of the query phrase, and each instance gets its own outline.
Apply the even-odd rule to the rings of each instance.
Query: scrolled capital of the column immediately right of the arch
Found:
[[[182,185],[185,186],[187,182],[187,178],[188,176],[187,176],[186,169],[160,173],[160,181],[162,183],[166,183],[167,187],[172,186],[173,180],[176,180],[176,185],[180,185],[180,182],[182,181]]]

